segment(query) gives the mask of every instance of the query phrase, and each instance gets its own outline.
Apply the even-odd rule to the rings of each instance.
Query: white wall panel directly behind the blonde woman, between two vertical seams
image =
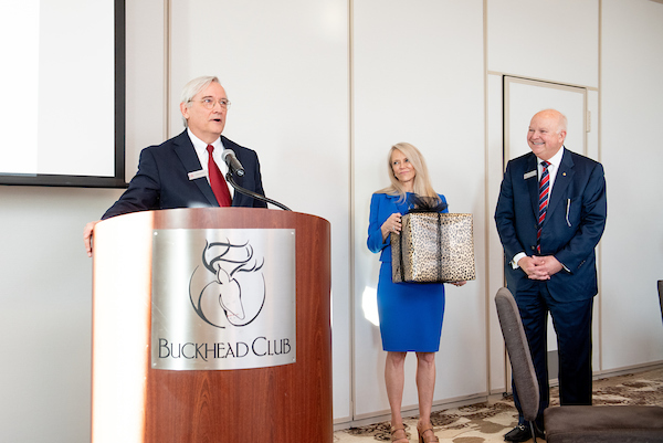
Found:
[[[446,197],[451,212],[474,214],[480,271],[475,282],[462,288],[446,287],[434,401],[486,391],[481,266],[485,262],[483,4],[478,0],[354,4],[352,377],[355,415],[366,418],[389,411],[382,376],[386,354],[378,326],[371,321],[377,315],[379,261],[378,254],[366,247],[366,239],[370,196],[389,184],[387,152],[399,141],[421,150],[433,187]],[[406,409],[417,408],[414,372],[415,359],[410,356],[406,361]]]

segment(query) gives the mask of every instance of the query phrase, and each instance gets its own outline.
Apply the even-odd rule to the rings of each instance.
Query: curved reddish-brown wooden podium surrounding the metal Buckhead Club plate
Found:
[[[155,369],[155,231],[240,229],[294,230],[296,361],[236,370]],[[250,208],[120,215],[95,228],[93,272],[93,442],[333,441],[326,220]]]

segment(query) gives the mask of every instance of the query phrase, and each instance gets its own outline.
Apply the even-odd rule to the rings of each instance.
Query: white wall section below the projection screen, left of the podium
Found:
[[[86,221],[115,190],[0,187],[0,440],[90,440]]]

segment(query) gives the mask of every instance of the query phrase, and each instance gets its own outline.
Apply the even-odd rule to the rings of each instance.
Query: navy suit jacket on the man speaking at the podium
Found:
[[[242,188],[264,196],[260,162],[255,151],[221,136],[225,149],[232,149],[244,167],[243,177],[234,177]],[[159,146],[143,149],[138,172],[102,219],[128,212],[175,208],[219,207],[207,177],[190,180],[189,173],[201,169],[200,160],[187,130]],[[230,187],[230,184],[229,184]],[[266,208],[252,197],[235,192],[233,207]]]

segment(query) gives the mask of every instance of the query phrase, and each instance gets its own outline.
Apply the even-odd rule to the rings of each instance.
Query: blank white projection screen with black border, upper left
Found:
[[[0,2],[0,184],[125,187],[125,1]]]

